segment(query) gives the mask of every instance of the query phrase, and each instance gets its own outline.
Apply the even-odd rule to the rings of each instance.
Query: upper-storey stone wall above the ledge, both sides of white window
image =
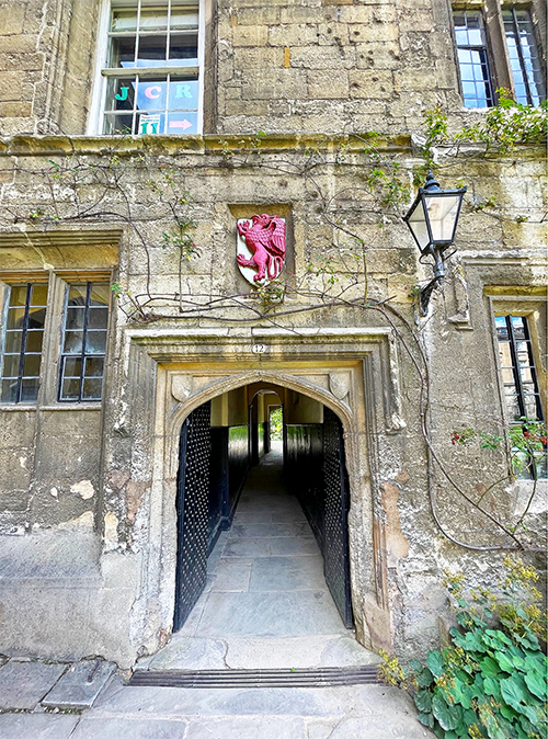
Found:
[[[100,10],[0,4],[0,133],[85,133]],[[205,0],[203,11],[205,133],[418,132],[436,104],[476,117],[458,93],[445,0]]]

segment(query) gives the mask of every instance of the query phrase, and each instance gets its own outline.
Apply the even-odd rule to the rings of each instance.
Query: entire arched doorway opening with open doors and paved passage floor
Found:
[[[269,448],[272,406],[283,408],[282,454]],[[191,621],[209,636],[222,632],[219,612],[237,636],[352,628],[349,479],[331,409],[266,383],[198,406],[181,429],[176,508],[174,630],[189,630],[204,600]],[[235,573],[237,588],[226,582]]]

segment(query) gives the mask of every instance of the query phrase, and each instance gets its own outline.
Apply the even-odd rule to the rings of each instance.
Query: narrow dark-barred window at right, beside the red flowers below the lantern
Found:
[[[506,417],[512,424],[523,424],[525,419],[543,421],[543,406],[538,391],[535,359],[524,316],[496,316],[494,319]],[[530,479],[546,477],[546,452],[526,454],[515,452],[520,462],[517,477]]]

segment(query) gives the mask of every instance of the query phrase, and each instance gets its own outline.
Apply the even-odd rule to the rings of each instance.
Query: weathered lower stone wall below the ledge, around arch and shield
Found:
[[[362,144],[345,140],[342,148],[345,159],[338,161],[334,145],[316,139],[317,156],[324,157],[320,161],[327,163],[315,164],[313,181],[318,185],[315,196],[315,190],[308,186],[306,167],[302,168],[309,159],[311,143],[264,137],[260,151],[253,154],[247,149],[254,146],[251,139],[248,144],[241,138],[232,139],[228,145],[232,147],[230,151],[226,150],[226,143],[219,144],[215,137],[187,139],[184,144],[149,139],[126,141],[105,152],[105,139],[14,138],[3,151],[3,160],[13,166],[13,182],[4,185],[2,195],[12,219],[1,240],[4,277],[13,270],[19,273],[26,270],[30,274],[45,270],[62,277],[62,270],[73,268],[79,255],[85,254],[82,264],[88,271],[114,266],[113,280],[119,292],[113,306],[103,410],[64,407],[59,411],[38,403],[36,411],[2,411],[10,424],[11,419],[20,418],[24,428],[24,433],[19,433],[10,424],[2,427],[10,430],[3,442],[5,467],[12,469],[14,454],[23,454],[20,448],[34,459],[26,465],[26,477],[19,478],[19,487],[5,486],[7,531],[23,532],[38,526],[59,531],[68,526],[75,536],[96,531],[105,553],[94,565],[98,582],[106,582],[99,575],[106,556],[114,572],[114,584],[110,581],[114,590],[116,577],[126,578],[127,567],[130,568],[130,581],[140,584],[135,585],[133,595],[127,589],[121,594],[122,602],[130,604],[127,609],[124,605],[126,610],[119,615],[121,623],[126,624],[128,641],[112,651],[109,638],[103,645],[104,653],[115,653],[122,661],[130,661],[139,648],[155,649],[170,628],[170,562],[174,555],[169,545],[172,534],[165,532],[173,532],[175,525],[172,490],[176,465],[162,469],[165,463],[161,459],[167,457],[158,444],[167,443],[168,439],[161,428],[162,419],[174,418],[176,408],[186,398],[204,398],[199,395],[201,383],[212,386],[219,373],[224,376],[235,371],[230,367],[243,372],[242,377],[246,367],[249,372],[277,368],[287,376],[300,373],[311,388],[318,388],[310,390],[311,397],[323,402],[324,397],[313,393],[320,393],[322,387],[329,391],[331,387],[321,379],[327,377],[322,374],[326,363],[331,362],[341,372],[344,362],[340,363],[344,357],[349,361],[352,351],[357,351],[358,356],[367,353],[365,345],[363,354],[352,342],[341,345],[341,340],[335,339],[338,331],[369,331],[373,337],[380,331],[381,336],[375,340],[380,364],[375,365],[372,380],[366,380],[364,387],[374,398],[367,402],[380,403],[383,410],[375,411],[376,420],[368,428],[365,417],[358,420],[363,397],[353,396],[351,403],[352,413],[357,413],[352,423],[356,424],[359,437],[369,434],[368,455],[373,455],[375,446],[377,458],[376,463],[365,461],[352,447],[349,453],[353,490],[352,561],[355,592],[359,593],[355,610],[361,638],[365,644],[396,646],[400,651],[423,649],[436,638],[438,615],[445,604],[439,588],[441,570],[464,565],[465,550],[442,535],[430,510],[427,457],[419,412],[421,378],[408,355],[410,349],[418,356],[416,346],[396,317],[396,327],[406,343],[397,337],[387,343],[389,321],[378,310],[367,308],[368,302],[374,305],[389,299],[389,305],[412,325],[415,310],[412,287],[418,280],[429,278],[429,273],[418,265],[410,236],[397,211],[384,209],[375,193],[364,187],[373,164],[362,151]],[[117,146],[115,141],[112,144]],[[64,154],[72,147],[79,152]],[[396,156],[404,172],[420,161],[409,139],[377,141],[377,147],[383,156],[387,152]],[[490,293],[495,297],[496,293],[518,299],[529,297],[535,300],[535,309],[541,310],[545,272],[540,243],[546,225],[539,221],[545,182],[538,149],[520,150],[518,163],[515,152],[473,163],[460,162],[443,151],[438,154],[444,164],[443,184],[465,180],[471,192],[460,221],[459,253],[453,260],[455,264],[460,262],[460,268],[449,274],[444,292],[434,295],[433,314],[419,322],[419,334],[431,362],[430,418],[435,447],[455,479],[473,491],[491,471],[504,468],[504,455],[482,453],[478,458],[469,458],[459,448],[453,450],[449,435],[460,425],[501,428]],[[46,157],[57,168],[44,164]],[[70,179],[75,169],[83,178],[77,186],[79,198],[75,197]],[[520,177],[515,177],[516,171]],[[56,179],[52,180],[52,174]],[[175,183],[176,194],[187,201],[181,206],[182,212],[191,214],[195,221],[189,232],[199,253],[191,259],[181,260],[179,247],[167,245],[162,237],[174,226],[167,205],[171,182]],[[129,212],[124,193],[130,195]],[[192,195],[192,203],[184,193]],[[333,223],[319,212],[319,194],[324,193],[334,198]],[[500,203],[496,212],[478,211],[476,203],[491,193],[495,193]],[[78,230],[77,237],[72,218],[79,202],[85,202],[87,208],[94,202],[98,205],[93,206],[96,217],[91,223],[76,219],[78,229],[83,225],[85,228]],[[36,213],[38,208],[39,217],[28,218],[28,212]],[[259,319],[256,310],[262,309],[261,302],[256,295],[252,296],[253,289],[236,265],[235,223],[242,215],[279,208],[287,217],[293,266],[282,278],[287,285],[284,302]],[[124,221],[128,213],[130,220]],[[529,219],[522,221],[520,216],[524,213]],[[379,217],[384,220],[380,229]],[[352,254],[355,241],[341,227],[364,240],[367,282],[363,259],[356,260]],[[111,239],[105,236],[110,228]],[[20,232],[18,246],[13,246],[14,237],[10,237],[10,231],[15,230]],[[73,238],[88,239],[96,246],[71,248]],[[30,246],[24,246],[25,239]],[[57,246],[50,245],[52,239],[57,239]],[[109,240],[117,249],[107,246]],[[212,299],[230,295],[239,297],[236,302],[216,304],[212,310],[208,305]],[[144,316],[139,317],[135,310],[136,300],[142,304]],[[312,306],[316,307],[311,309]],[[249,321],[241,325],[242,318]],[[282,343],[271,348],[267,339],[261,339],[266,341],[270,354],[258,359],[251,353],[253,336],[260,336],[256,331],[265,331],[267,337],[269,330],[276,333],[284,327],[290,329],[289,336],[297,331],[290,345],[276,338]],[[327,334],[313,340],[315,359],[310,364],[307,351],[311,350],[304,348],[306,339],[299,337],[306,337],[307,331],[313,336],[319,327]],[[193,336],[198,344],[191,348]],[[539,349],[544,355],[543,340]],[[231,364],[235,359],[236,365]],[[170,394],[168,380],[161,379],[165,372],[176,374],[178,367],[183,370],[175,394],[179,406],[172,397],[174,390]],[[56,372],[45,366],[44,377],[50,375],[55,384]],[[165,393],[170,401],[162,410],[159,398]],[[212,390],[212,397],[215,394]],[[55,401],[48,402],[55,406]],[[39,433],[33,419],[41,419]],[[355,433],[352,425],[345,431],[347,439],[352,439]],[[489,521],[481,515],[470,516],[469,508],[439,470],[434,469],[433,474],[436,505],[446,530],[472,545],[500,542],[501,536]],[[160,508],[155,475],[160,475],[165,496]],[[93,486],[89,498],[88,487],[85,494],[81,494],[82,480]],[[54,487],[56,496],[52,493]],[[499,514],[503,511],[509,521],[513,494],[511,490],[504,494],[499,491],[490,501],[492,510]],[[164,510],[159,528],[155,519],[158,510]],[[372,512],[376,533],[366,534],[364,521]],[[155,580],[159,547],[167,553],[162,556],[164,575]],[[379,566],[377,576],[368,559],[374,549]],[[492,579],[490,568],[500,557],[473,553],[466,559],[467,569],[483,581]],[[104,585],[98,587],[101,590]]]

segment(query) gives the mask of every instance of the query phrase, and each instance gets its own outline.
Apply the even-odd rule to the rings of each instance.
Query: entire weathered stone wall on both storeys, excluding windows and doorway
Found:
[[[499,308],[530,315],[545,393],[545,152],[434,151],[442,186],[469,191],[444,289],[419,318],[415,287],[431,272],[400,216],[424,164],[413,144],[423,111],[441,103],[449,127],[465,114],[448,5],[233,0],[206,3],[206,15],[205,125],[217,133],[111,139],[82,136],[99,2],[0,2],[0,287],[41,275],[53,296],[38,402],[0,407],[0,650],[128,666],[165,640],[181,423],[249,382],[341,418],[358,636],[420,653],[446,606],[442,570],[492,582],[503,556],[446,534],[512,544],[429,467],[422,429],[426,418],[432,451],[472,494],[507,469],[500,450],[450,444],[456,428],[504,423]],[[283,299],[250,287],[236,263],[236,220],[256,212],[286,218]],[[104,400],[61,407],[62,288],[93,274],[115,287]],[[487,510],[512,523],[527,485],[495,492]]]

